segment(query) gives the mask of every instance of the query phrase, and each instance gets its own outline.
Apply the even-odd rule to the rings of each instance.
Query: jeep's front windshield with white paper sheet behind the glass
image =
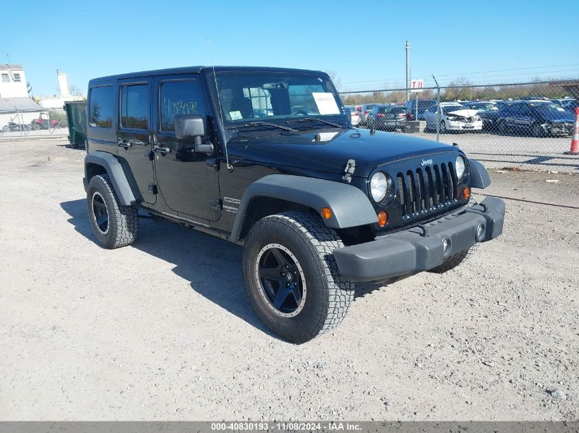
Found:
[[[324,75],[287,72],[218,72],[217,88],[227,128],[248,124],[318,118],[304,128],[347,124],[346,111],[334,86]],[[342,125],[340,125],[341,127]]]

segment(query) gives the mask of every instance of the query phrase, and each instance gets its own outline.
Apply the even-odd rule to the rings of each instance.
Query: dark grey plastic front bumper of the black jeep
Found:
[[[424,230],[415,226],[365,244],[337,248],[334,257],[338,272],[352,281],[379,281],[430,270],[478,241],[498,237],[503,230],[504,210],[502,200],[487,197],[480,205],[462,207],[423,224]],[[481,224],[482,234],[477,239]]]

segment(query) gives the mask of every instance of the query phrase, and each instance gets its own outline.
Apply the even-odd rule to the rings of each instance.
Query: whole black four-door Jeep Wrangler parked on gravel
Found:
[[[356,281],[445,272],[502,233],[504,203],[469,200],[490,183],[480,163],[353,129],[325,73],[190,67],[88,87],[84,187],[99,242],[132,244],[141,211],[243,244],[249,300],[284,339],[334,328]]]

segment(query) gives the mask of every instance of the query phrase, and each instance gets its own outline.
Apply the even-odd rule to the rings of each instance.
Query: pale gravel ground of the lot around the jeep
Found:
[[[578,209],[508,200],[463,267],[360,285],[291,345],[252,311],[241,247],[149,220],[95,244],[65,144],[0,142],[0,419],[579,419]],[[576,175],[491,176],[578,206]]]

